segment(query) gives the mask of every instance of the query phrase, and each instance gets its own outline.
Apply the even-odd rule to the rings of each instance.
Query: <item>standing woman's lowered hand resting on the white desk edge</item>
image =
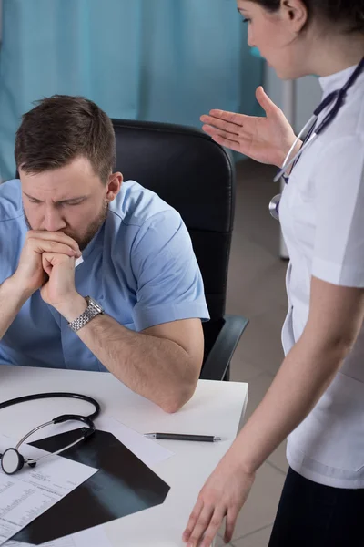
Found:
[[[255,473],[241,469],[230,452],[220,461],[200,491],[183,534],[187,547],[210,547],[226,517],[224,541],[230,542],[238,512],[248,498]]]

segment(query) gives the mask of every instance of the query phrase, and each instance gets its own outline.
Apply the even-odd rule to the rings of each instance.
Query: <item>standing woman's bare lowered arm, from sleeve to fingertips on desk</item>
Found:
[[[364,289],[312,278],[308,323],[264,397],[201,490],[185,541],[212,542],[227,515],[226,541],[248,497],[255,472],[307,417],[354,345],[364,318]]]

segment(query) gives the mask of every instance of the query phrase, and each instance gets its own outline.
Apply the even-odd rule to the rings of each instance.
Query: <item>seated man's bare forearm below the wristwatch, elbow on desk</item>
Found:
[[[63,315],[71,321],[85,307],[80,297],[71,314]],[[177,411],[192,397],[196,366],[177,343],[131,331],[109,315],[97,315],[77,335],[114,376],[167,412]]]

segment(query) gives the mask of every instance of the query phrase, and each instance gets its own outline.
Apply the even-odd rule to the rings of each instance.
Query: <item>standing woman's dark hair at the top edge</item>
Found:
[[[269,11],[278,11],[280,0],[253,0]],[[321,16],[323,19],[342,24],[348,32],[364,33],[364,0],[302,0],[308,8],[308,16]]]

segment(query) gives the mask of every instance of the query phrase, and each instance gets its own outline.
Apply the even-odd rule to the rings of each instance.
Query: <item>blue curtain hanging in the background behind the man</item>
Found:
[[[197,127],[209,108],[254,114],[246,32],[235,0],[3,0],[0,176],[14,175],[21,115],[55,93]]]

